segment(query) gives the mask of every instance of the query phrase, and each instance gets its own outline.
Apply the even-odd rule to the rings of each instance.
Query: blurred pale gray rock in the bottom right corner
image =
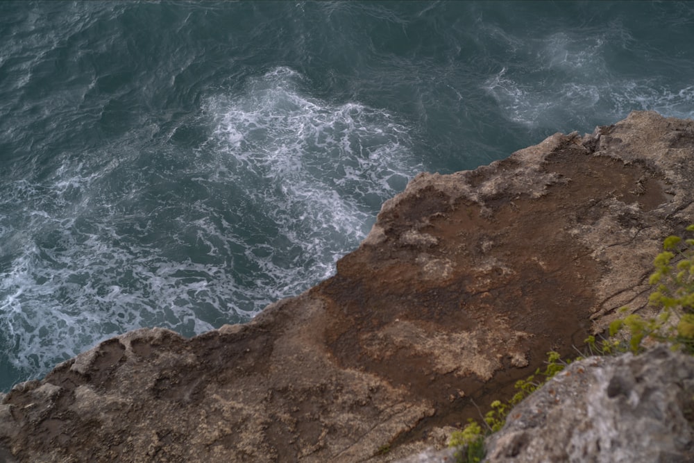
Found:
[[[509,414],[487,462],[694,461],[694,358],[659,346],[571,364]]]

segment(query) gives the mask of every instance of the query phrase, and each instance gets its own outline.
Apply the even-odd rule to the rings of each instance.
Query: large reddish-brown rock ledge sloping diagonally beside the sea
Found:
[[[629,303],[694,221],[694,121],[634,112],[420,174],[337,274],[251,323],[142,329],[0,401],[21,462],[361,462],[441,445]]]

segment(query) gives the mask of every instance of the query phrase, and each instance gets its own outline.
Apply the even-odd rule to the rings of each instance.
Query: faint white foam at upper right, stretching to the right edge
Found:
[[[625,117],[632,110],[691,117],[693,87],[678,88],[665,76],[615,78],[605,54],[608,46],[628,48],[633,42],[621,24],[593,33],[561,31],[525,43],[511,40],[521,62],[509,62],[486,79],[482,89],[496,99],[509,121],[527,128],[568,130]],[[564,126],[557,126],[558,121]]]

